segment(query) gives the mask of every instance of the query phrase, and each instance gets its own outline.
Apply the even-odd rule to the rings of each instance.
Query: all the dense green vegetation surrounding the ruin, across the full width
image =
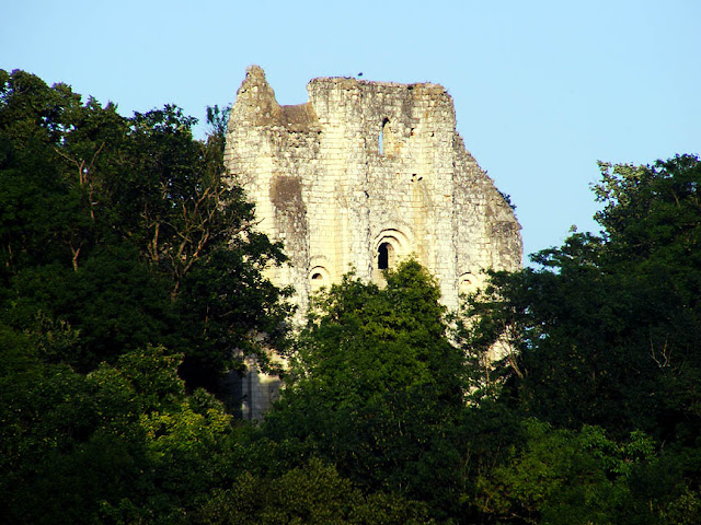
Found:
[[[602,164],[601,235],[459,313],[406,261],[294,335],[226,112],[194,124],[0,71],[1,522],[701,522],[698,158]],[[244,424],[218,380],[268,346]]]

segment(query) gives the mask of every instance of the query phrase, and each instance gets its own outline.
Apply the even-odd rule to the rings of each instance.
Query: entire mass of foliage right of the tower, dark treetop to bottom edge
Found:
[[[701,163],[601,170],[601,236],[574,232],[533,256],[540,269],[493,273],[459,325],[468,353],[507,350],[478,376],[480,402],[547,421],[481,471],[489,520],[699,517]]]

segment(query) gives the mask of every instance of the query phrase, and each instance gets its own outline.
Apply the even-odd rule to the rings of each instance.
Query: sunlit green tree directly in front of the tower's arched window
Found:
[[[463,359],[426,270],[412,260],[386,278],[379,289],[346,276],[320,298],[264,431],[306,443],[365,490],[455,512]]]

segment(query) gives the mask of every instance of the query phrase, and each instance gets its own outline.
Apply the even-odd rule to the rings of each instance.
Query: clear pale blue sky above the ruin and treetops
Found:
[[[440,83],[529,254],[598,231],[597,160],[701,153],[700,21],[698,0],[4,0],[0,69],[199,118],[251,63],[280,104],[314,77]]]

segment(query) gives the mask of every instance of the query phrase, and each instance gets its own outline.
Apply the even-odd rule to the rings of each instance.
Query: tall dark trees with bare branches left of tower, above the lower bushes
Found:
[[[226,178],[226,115],[211,108],[198,141],[176,106],[125,118],[2,71],[1,318],[39,339],[70,325],[71,354],[51,359],[82,372],[166,345],[192,387],[214,387],[237,348],[283,348],[288,292],[263,271],[285,256]]]

